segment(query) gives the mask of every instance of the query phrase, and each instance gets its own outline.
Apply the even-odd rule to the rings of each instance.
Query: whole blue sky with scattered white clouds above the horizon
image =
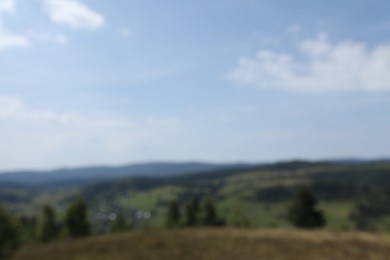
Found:
[[[389,158],[389,9],[0,0],[0,170]]]

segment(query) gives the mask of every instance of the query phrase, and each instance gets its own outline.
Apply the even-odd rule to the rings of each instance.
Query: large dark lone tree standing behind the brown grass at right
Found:
[[[288,211],[288,219],[296,227],[318,228],[325,225],[324,213],[316,209],[317,201],[307,187],[300,187]]]

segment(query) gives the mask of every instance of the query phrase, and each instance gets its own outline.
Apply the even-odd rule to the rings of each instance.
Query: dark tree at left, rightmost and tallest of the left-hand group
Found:
[[[83,237],[90,234],[87,205],[82,198],[78,198],[69,206],[65,216],[65,228],[70,237]]]

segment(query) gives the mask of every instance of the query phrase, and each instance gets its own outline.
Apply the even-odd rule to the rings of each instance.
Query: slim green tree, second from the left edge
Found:
[[[49,242],[58,235],[58,225],[56,222],[56,213],[54,209],[45,205],[42,208],[41,216],[38,222],[37,236],[41,242]]]

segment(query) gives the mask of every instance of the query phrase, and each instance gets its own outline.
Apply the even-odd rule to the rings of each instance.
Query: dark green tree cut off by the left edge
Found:
[[[18,223],[0,205],[0,259],[10,256],[18,248],[19,244]]]

